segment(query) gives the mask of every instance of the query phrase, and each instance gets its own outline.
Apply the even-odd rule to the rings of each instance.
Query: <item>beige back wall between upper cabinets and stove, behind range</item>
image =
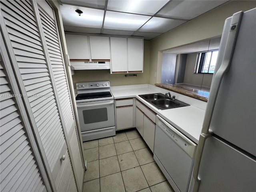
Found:
[[[149,82],[150,41],[144,41],[143,73],[125,77],[124,74],[110,74],[110,70],[76,70],[72,76],[74,87],[77,82],[110,81],[111,86],[148,84]]]

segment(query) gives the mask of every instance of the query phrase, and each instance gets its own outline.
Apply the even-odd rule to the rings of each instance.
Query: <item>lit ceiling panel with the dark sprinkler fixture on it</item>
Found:
[[[81,16],[75,12],[76,9],[82,10]],[[101,28],[104,10],[91,9],[79,6],[63,5],[60,7],[64,25]]]

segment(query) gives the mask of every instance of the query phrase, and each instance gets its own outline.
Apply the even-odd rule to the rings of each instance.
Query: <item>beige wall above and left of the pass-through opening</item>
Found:
[[[220,36],[226,18],[238,11],[247,11],[255,7],[255,0],[229,1],[214,10],[198,16],[194,20],[174,28],[162,36],[151,40],[149,83],[159,83],[159,79],[161,79],[162,50]],[[157,77],[154,77],[154,72],[157,72]]]

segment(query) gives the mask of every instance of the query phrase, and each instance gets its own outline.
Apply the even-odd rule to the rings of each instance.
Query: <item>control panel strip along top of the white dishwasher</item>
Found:
[[[194,158],[197,148],[194,142],[159,116],[156,118],[156,125],[174,140],[190,157]]]

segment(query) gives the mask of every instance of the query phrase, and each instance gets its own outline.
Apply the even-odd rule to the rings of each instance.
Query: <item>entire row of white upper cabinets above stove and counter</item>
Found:
[[[68,55],[73,62],[110,60],[111,73],[143,72],[143,38],[74,34],[65,36]]]

